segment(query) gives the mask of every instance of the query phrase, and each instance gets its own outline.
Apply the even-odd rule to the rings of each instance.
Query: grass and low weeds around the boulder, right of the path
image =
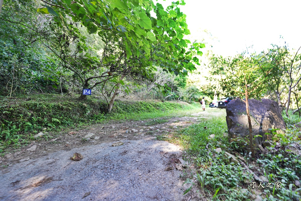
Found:
[[[219,109],[207,110],[210,113]],[[284,117],[287,125],[300,121],[296,115],[290,115],[289,119]],[[225,114],[214,116],[180,130],[169,139],[185,147],[187,160],[194,164],[194,170],[183,172],[187,183],[197,187],[201,196],[208,200],[254,200],[256,193],[261,193],[264,201],[301,200],[301,189],[295,181],[301,178],[301,157],[286,148],[300,141],[299,129],[288,128],[285,135],[273,135],[273,146],[266,153],[258,152],[257,162],[254,162],[249,155],[248,139],[229,143]],[[213,139],[209,139],[211,134],[215,134]],[[219,147],[222,152],[216,153],[215,149]],[[274,188],[257,188],[260,184],[257,182],[253,189],[249,182],[255,181],[254,177],[242,165],[230,163],[224,156],[225,151],[244,157],[252,171],[268,180],[262,185],[272,183],[270,186]],[[275,188],[278,181],[282,188]]]

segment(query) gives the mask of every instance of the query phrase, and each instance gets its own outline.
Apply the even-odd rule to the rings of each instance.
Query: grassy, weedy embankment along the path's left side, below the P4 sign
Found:
[[[200,105],[117,100],[110,114],[104,113],[105,108],[103,100],[93,97],[85,101],[53,94],[0,97],[0,152],[8,145],[26,144],[45,127],[47,131],[56,132],[108,121],[185,115],[197,111]]]

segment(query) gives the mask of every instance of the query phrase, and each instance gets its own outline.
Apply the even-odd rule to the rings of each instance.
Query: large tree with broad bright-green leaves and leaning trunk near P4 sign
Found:
[[[107,100],[108,112],[125,78],[153,79],[155,66],[186,76],[188,71],[195,69],[193,63],[198,64],[199,59],[195,55],[203,54],[200,48],[204,44],[191,44],[183,39],[190,34],[186,15],[178,8],[179,5],[185,5],[184,1],[172,2],[166,10],[161,4],[155,5],[150,0],[42,2],[45,3],[44,8],[39,8],[38,12],[50,13],[62,24],[68,24],[71,18],[85,26],[90,34],[97,33],[101,37],[105,48],[101,62],[95,63],[95,66],[102,67],[103,73],[95,75],[91,72],[93,76],[82,76],[83,88],[102,84],[103,94],[104,84],[113,83],[115,90],[110,101]],[[151,16],[151,11],[154,11],[156,18]],[[137,77],[134,78],[134,75]],[[90,85],[94,79],[98,80]]]

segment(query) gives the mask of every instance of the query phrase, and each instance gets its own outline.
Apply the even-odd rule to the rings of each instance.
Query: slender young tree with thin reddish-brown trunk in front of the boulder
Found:
[[[240,97],[246,104],[249,124],[249,140],[252,157],[255,157],[253,145],[252,124],[250,118],[250,98],[260,98],[262,92],[268,88],[269,78],[275,75],[274,67],[262,62],[260,55],[246,55],[242,53],[234,58],[215,57],[210,62],[213,68],[213,77],[219,82],[223,92],[233,97]]]

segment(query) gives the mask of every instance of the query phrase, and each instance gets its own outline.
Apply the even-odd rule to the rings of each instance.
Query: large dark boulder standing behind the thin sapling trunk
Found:
[[[270,99],[249,99],[249,106],[253,136],[262,136],[253,139],[257,147],[271,138],[270,135],[265,135],[270,133],[269,128],[280,128],[277,132],[283,132],[286,128],[277,102]],[[231,138],[249,136],[246,104],[241,99],[232,100],[227,104],[226,112],[229,141]]]

